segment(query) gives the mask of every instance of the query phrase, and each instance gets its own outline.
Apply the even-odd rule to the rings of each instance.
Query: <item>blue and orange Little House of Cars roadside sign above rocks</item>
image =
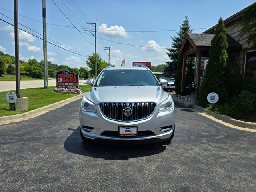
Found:
[[[79,88],[79,76],[68,71],[59,71],[56,76],[56,86],[62,88]]]

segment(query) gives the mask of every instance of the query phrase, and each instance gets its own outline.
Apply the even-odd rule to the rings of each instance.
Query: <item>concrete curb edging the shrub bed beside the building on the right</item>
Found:
[[[194,105],[190,109],[195,111],[195,112],[201,112],[201,113],[207,114],[209,116],[217,118],[218,120],[221,120],[223,122],[232,124],[232,125],[237,126],[237,127],[256,130],[256,123],[240,121],[240,120],[234,119],[234,118],[226,116],[226,115],[215,114],[214,112],[206,110],[205,108],[200,107],[198,105]]]

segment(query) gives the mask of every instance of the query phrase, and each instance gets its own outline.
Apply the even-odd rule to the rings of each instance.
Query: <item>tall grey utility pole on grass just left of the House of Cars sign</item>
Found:
[[[46,0],[43,0],[43,46],[44,46],[44,88],[48,88],[48,62],[46,37]]]

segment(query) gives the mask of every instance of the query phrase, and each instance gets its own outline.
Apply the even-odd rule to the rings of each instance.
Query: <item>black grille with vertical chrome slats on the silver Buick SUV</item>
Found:
[[[132,114],[130,116],[126,116],[123,112],[123,109],[126,107],[130,107],[132,109]],[[154,102],[100,103],[100,109],[104,114],[104,116],[113,120],[124,121],[124,122],[138,121],[138,120],[149,118],[154,113],[155,108],[156,108],[156,103]]]

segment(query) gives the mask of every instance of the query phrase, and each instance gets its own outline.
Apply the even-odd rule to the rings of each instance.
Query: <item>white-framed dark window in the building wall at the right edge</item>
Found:
[[[256,50],[245,52],[244,77],[256,77]]]

